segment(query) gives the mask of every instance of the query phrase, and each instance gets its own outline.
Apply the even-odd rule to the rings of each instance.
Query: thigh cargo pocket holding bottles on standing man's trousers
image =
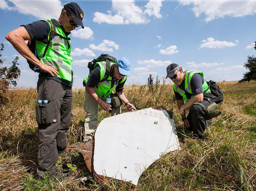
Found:
[[[57,122],[56,101],[48,101],[46,105],[36,103],[36,121],[38,125],[47,125]]]

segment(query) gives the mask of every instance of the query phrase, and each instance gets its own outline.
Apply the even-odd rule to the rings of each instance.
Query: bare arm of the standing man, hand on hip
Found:
[[[54,66],[48,66],[46,64],[42,64],[37,57],[29,50],[27,47],[25,40],[31,40],[27,30],[20,26],[19,28],[14,29],[9,32],[5,37],[13,47],[20,53],[21,56],[25,57],[32,64],[36,65],[40,70],[44,70],[49,72],[52,76],[53,73],[57,76],[59,74],[58,69]]]

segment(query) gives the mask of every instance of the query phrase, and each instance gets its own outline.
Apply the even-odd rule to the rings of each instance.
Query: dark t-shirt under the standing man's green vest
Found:
[[[54,25],[61,26],[63,32],[65,32],[62,25],[56,19],[52,19],[52,20],[54,22]],[[32,40],[39,40],[39,41],[42,41],[43,43],[47,44],[47,42],[48,42],[47,38],[48,38],[48,34],[50,32],[50,25],[48,24],[48,22],[46,20],[38,20],[38,21],[35,21],[28,25],[21,25],[21,26],[23,26],[27,30],[27,32]],[[67,36],[70,34],[70,32],[65,32],[65,34]],[[53,79],[57,82],[64,83],[65,85],[72,87],[72,84],[73,84],[72,82],[68,82],[67,80],[63,80],[57,76],[52,76],[47,72],[41,72],[39,74],[39,77],[44,76],[44,75],[46,75],[46,78]]]

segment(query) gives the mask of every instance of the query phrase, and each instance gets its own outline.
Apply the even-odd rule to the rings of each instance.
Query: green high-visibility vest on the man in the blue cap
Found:
[[[111,62],[111,66],[115,64],[114,62]],[[105,72],[106,72],[106,68],[107,68],[107,64],[105,61],[101,61],[101,62],[96,62],[94,65],[94,68],[96,65],[100,66],[101,69],[101,80],[103,80],[104,76],[105,76]],[[87,83],[88,82],[88,78],[90,77],[90,74],[88,76],[85,76],[84,78],[84,82]],[[125,79],[127,78],[127,76],[125,76],[121,82],[119,81],[111,81],[112,77],[109,75],[108,78],[104,81],[100,81],[100,83],[98,83],[96,86],[93,87],[95,93],[97,94],[97,96],[99,97],[103,97],[104,99],[111,94],[111,92],[113,91],[113,89],[115,89],[115,87],[118,85],[118,83],[123,83],[125,81]]]

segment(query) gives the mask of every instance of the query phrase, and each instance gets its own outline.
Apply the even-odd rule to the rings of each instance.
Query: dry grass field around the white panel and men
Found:
[[[256,82],[223,82],[222,115],[205,131],[206,140],[193,140],[178,114],[172,85],[127,86],[125,95],[137,109],[163,106],[175,113],[181,150],[157,160],[141,176],[135,190],[256,190]],[[68,145],[81,141],[85,112],[84,89],[74,89]],[[0,108],[0,190],[130,190],[115,179],[100,184],[86,168],[83,157],[68,149],[57,168],[67,178],[36,178],[36,89],[13,89]],[[123,107],[123,106],[122,106]],[[128,110],[123,107],[122,111]],[[99,122],[110,116],[99,108]],[[154,141],[154,140],[152,140]],[[82,182],[81,178],[89,177]]]

